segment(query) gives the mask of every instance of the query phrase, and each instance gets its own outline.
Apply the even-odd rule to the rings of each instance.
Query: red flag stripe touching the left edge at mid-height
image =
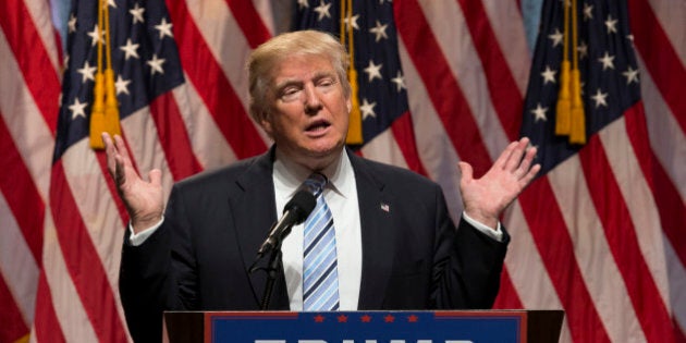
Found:
[[[36,265],[40,267],[42,219],[46,206],[19,149],[14,145],[14,140],[12,140],[12,135],[3,118],[0,113],[0,151],[2,151],[0,154],[0,166],[2,166],[0,191],[14,213],[14,219],[21,228],[22,235],[36,260]]]

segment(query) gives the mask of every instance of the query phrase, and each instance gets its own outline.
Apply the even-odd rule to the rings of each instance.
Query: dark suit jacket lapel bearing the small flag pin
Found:
[[[369,164],[348,154],[357,184],[363,241],[363,271],[358,309],[380,309],[394,256],[393,205],[384,183],[369,172]]]

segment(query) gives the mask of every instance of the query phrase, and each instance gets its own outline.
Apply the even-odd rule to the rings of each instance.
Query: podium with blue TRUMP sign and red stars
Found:
[[[558,342],[563,310],[167,311],[164,342]]]

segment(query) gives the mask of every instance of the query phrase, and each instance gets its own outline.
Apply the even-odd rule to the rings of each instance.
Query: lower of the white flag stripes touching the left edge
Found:
[[[27,326],[34,321],[38,265],[0,193],[0,278],[3,278]]]

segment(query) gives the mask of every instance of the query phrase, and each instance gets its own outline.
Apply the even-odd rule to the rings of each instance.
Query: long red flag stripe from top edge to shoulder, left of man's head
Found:
[[[169,11],[174,23],[174,36],[183,42],[179,46],[179,54],[184,71],[236,157],[243,159],[267,150],[235,90],[188,14],[185,2],[170,4]]]

